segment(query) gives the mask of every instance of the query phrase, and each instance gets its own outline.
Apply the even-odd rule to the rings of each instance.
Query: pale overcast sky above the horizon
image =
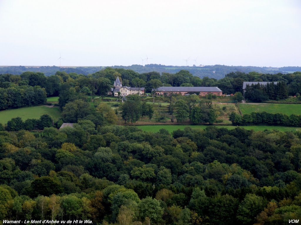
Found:
[[[300,0],[0,0],[0,66],[301,66],[300,37]]]

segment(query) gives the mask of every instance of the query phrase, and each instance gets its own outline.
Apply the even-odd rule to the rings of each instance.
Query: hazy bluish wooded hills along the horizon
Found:
[[[21,74],[25,71],[34,71],[45,73],[46,76],[55,74],[57,71],[66,71],[67,73],[82,73],[88,75],[89,73],[95,73],[96,71],[106,68],[105,66],[91,66],[91,67],[57,67],[57,66],[2,66],[0,67],[1,73],[11,73],[11,74]],[[141,65],[131,65],[131,66],[113,66],[113,68],[124,68],[129,70],[134,70],[138,73],[146,73],[151,71],[157,71],[159,73],[176,73],[180,70],[188,70],[194,76],[200,78],[204,76],[221,79],[225,77],[225,74],[230,72],[244,72],[249,73],[252,71],[258,73],[293,73],[296,71],[301,71],[301,67],[291,66],[291,67],[256,67],[256,66],[225,66],[225,65],[211,65],[211,66],[166,66],[161,64],[148,64],[145,66]]]

